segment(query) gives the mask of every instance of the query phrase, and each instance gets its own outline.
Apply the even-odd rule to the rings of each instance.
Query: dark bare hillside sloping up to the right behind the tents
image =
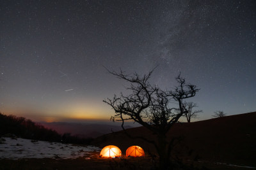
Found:
[[[132,136],[156,138],[145,127],[127,129],[127,132]],[[173,156],[182,159],[256,166],[256,112],[177,123],[168,132],[168,137],[182,138],[172,152]],[[127,138],[122,131],[100,136],[93,140],[92,145],[116,145],[121,150],[138,145],[146,154],[156,153],[152,145],[140,139]]]

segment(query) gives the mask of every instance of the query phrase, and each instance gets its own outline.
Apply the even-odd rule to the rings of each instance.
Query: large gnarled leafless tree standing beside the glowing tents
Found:
[[[188,112],[183,107],[183,100],[195,96],[199,89],[195,85],[186,83],[179,74],[175,78],[178,85],[173,90],[162,90],[149,82],[153,71],[154,69],[144,76],[139,76],[137,73],[129,76],[122,70],[120,73],[109,71],[117,78],[130,83],[127,90],[130,90],[131,94],[125,96],[121,93],[119,97],[115,95],[113,99],[105,99],[104,103],[115,110],[115,115],[111,119],[121,121],[123,129],[125,121],[133,120],[156,134],[156,141],[141,136],[136,138],[152,143],[159,155],[159,168],[167,169],[168,166],[170,167],[172,143],[167,140],[166,133],[180,117]]]

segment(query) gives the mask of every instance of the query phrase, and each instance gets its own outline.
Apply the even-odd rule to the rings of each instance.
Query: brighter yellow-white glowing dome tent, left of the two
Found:
[[[105,146],[100,152],[100,157],[104,158],[116,158],[121,157],[121,155],[121,150],[114,145]]]

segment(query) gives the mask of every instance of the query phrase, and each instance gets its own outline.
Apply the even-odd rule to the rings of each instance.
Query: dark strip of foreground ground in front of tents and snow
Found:
[[[103,159],[99,153],[92,153],[90,159],[79,157],[78,159],[0,159],[2,169],[155,169],[156,158],[127,158]],[[218,164],[209,161],[192,162],[186,160],[179,169],[253,169],[252,167]]]

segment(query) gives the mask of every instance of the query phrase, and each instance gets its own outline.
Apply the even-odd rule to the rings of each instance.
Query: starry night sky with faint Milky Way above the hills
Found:
[[[104,121],[125,91],[109,74],[200,88],[196,120],[256,111],[256,1],[0,1],[0,111],[34,121]]]

